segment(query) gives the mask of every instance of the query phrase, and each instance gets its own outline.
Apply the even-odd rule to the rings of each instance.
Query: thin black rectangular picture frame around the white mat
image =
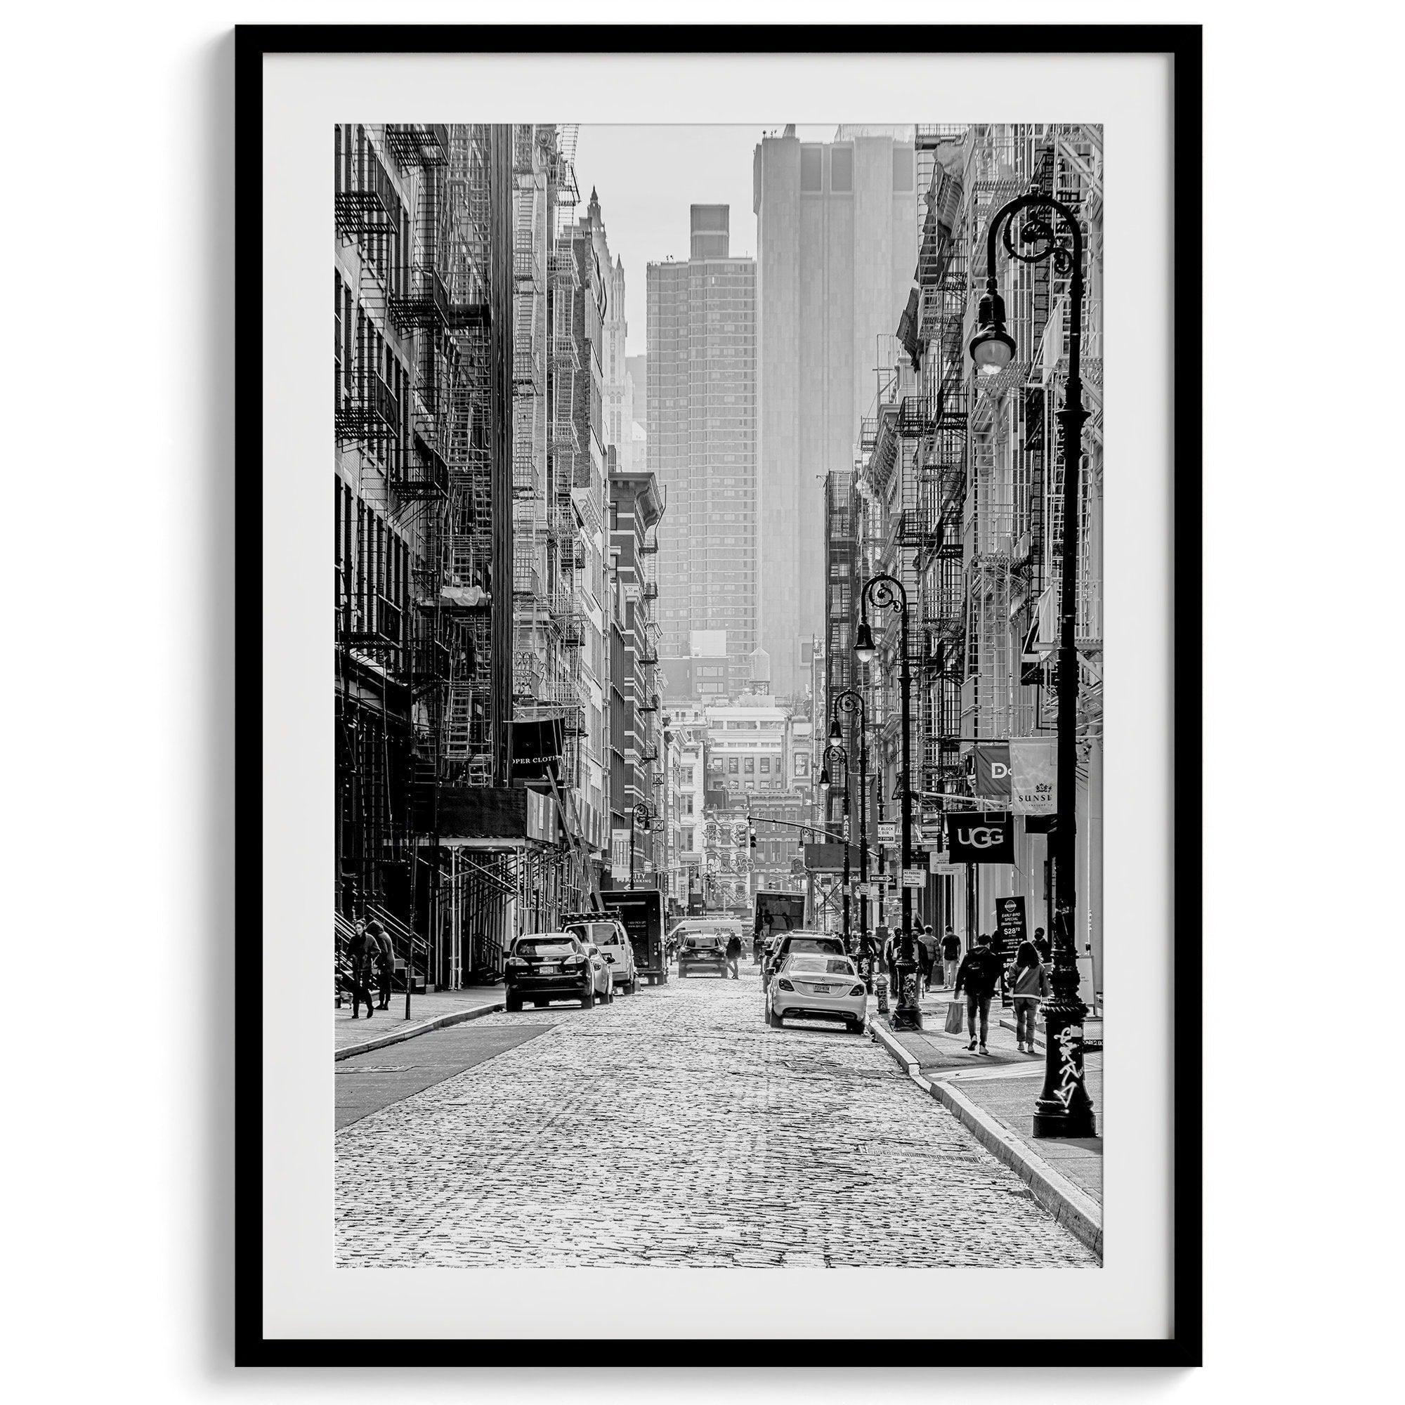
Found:
[[[530,35],[530,37],[528,37]],[[1172,1116],[1173,1333],[1165,1339],[941,1340],[940,1364],[1190,1367],[1203,1353],[1203,1052],[1201,975],[1201,148],[1203,39],[1200,25],[599,25],[528,31],[518,25],[239,25],[235,31],[236,118],[236,417],[237,447],[259,455],[263,443],[263,60],[278,53],[503,53],[534,48],[573,53],[1155,53],[1172,59],[1172,382],[1173,423],[1173,698],[1172,821],[1175,1048]],[[240,482],[235,530],[239,666],[236,753],[236,863],[244,913],[263,906],[263,490],[257,472]],[[242,981],[261,989],[260,944],[242,958]],[[274,1339],[263,1331],[263,1019],[243,1000],[236,1026],[235,1083],[235,1363],[237,1366],[518,1366],[521,1343],[395,1338],[372,1340]],[[792,1363],[795,1340],[639,1340],[631,1366],[743,1366]],[[832,1345],[843,1346],[835,1342]],[[891,1360],[863,1343],[865,1359]],[[532,1343],[532,1364],[554,1359],[552,1342]],[[936,1364],[936,1363],[934,1363]]]

